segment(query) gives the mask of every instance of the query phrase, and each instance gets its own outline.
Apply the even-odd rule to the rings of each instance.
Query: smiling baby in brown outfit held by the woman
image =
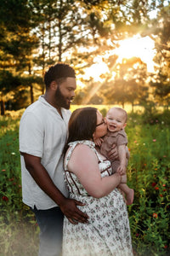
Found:
[[[122,108],[111,108],[106,114],[108,132],[100,141],[96,142],[100,146],[99,152],[108,158],[112,145],[116,144],[118,160],[111,160],[112,172],[120,172],[126,175],[127,169],[127,134],[124,128],[127,125],[127,112]],[[133,203],[134,191],[127,186],[127,183],[121,183],[119,188],[126,195],[127,205]]]

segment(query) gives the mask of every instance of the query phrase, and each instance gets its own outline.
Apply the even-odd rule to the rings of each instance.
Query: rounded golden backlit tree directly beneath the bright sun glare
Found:
[[[124,108],[126,102],[131,102],[132,111],[135,103],[144,105],[148,98],[148,85],[145,84],[146,65],[136,57],[123,59],[122,63],[116,64],[115,72],[114,81],[110,80],[105,84],[104,95],[107,103],[121,103]]]

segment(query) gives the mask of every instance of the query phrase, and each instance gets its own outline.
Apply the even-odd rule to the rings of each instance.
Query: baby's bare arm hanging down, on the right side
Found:
[[[116,172],[119,172],[121,175],[126,174],[126,164],[127,164],[127,150],[126,145],[119,145],[118,146],[118,154],[119,154],[119,160],[120,160],[120,166],[117,168]]]

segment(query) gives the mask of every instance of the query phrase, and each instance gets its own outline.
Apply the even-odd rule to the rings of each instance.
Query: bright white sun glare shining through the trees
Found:
[[[123,58],[139,57],[141,61],[146,63],[148,72],[154,72],[155,62],[153,58],[156,55],[156,50],[154,49],[154,41],[150,37],[141,38],[139,35],[136,35],[133,38],[119,41],[118,44],[120,45],[118,48],[105,53],[105,55],[96,56],[94,59],[95,64],[88,67],[85,72],[86,79],[93,78],[95,82],[102,82],[101,75],[109,73],[109,68],[103,59],[106,60],[110,55],[118,55],[116,63],[121,63]]]

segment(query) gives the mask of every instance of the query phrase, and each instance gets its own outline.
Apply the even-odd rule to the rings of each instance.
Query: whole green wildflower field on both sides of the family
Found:
[[[81,106],[78,106],[80,108]],[[95,106],[105,115],[111,106]],[[72,106],[74,110],[77,106]],[[0,117],[0,256],[36,256],[38,227],[21,201],[18,128],[24,110]],[[128,185],[134,189],[128,207],[134,255],[170,255],[169,112],[129,113]],[[140,113],[140,114],[139,114]],[[104,255],[105,256],[105,255]]]

